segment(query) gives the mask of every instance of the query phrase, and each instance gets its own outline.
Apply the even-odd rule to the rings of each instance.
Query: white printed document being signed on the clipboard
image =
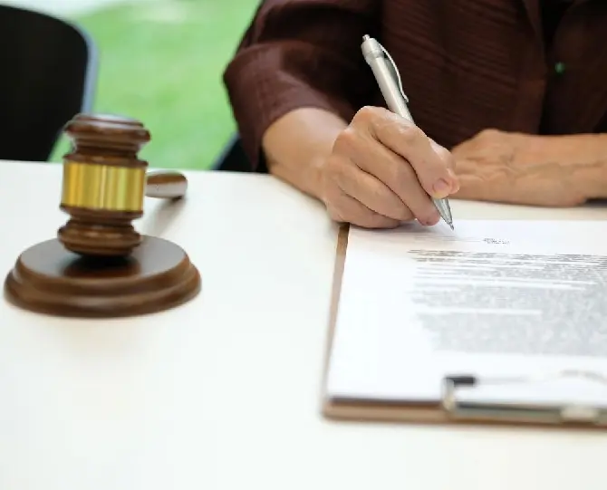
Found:
[[[447,375],[562,370],[607,379],[607,222],[458,220],[455,231],[442,223],[351,229],[327,373],[330,397],[436,401]],[[607,384],[543,386],[483,396],[607,405]]]

